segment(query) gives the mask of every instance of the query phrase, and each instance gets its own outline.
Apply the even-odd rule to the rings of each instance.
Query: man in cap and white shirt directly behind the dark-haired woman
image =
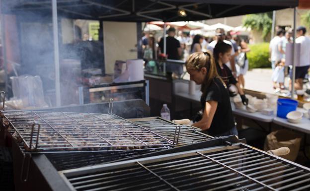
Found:
[[[235,52],[234,52],[234,49],[233,49],[233,44],[231,41],[227,41],[225,40],[225,30],[223,28],[217,28],[215,30],[215,35],[216,35],[216,40],[212,41],[208,47],[207,47],[207,50],[211,51],[213,53],[213,49],[215,47],[215,45],[218,43],[218,41],[222,41],[222,42],[225,42],[226,44],[229,44],[232,46],[232,57],[231,57],[231,60],[228,62],[228,63],[225,63],[231,70],[232,70],[232,73],[233,73],[233,76],[234,77],[237,77],[236,76],[236,69],[235,69],[235,65],[234,65],[234,56],[235,56]]]

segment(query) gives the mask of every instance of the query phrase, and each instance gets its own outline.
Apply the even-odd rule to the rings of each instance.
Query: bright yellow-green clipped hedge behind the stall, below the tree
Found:
[[[251,51],[246,54],[249,61],[249,68],[271,67],[271,63],[268,61],[269,43],[259,43],[248,46],[251,49]]]

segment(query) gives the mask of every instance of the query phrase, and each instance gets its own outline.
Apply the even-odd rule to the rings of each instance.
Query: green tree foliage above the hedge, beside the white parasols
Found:
[[[262,38],[265,39],[271,32],[272,12],[248,14],[243,18],[242,25],[252,30],[262,31]]]

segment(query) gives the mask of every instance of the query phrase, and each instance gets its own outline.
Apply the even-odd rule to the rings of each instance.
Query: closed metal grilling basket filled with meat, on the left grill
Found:
[[[28,151],[167,148],[168,138],[109,114],[1,111]],[[3,124],[3,123],[2,123]],[[5,123],[4,123],[5,124]],[[175,132],[176,132],[176,127]]]

